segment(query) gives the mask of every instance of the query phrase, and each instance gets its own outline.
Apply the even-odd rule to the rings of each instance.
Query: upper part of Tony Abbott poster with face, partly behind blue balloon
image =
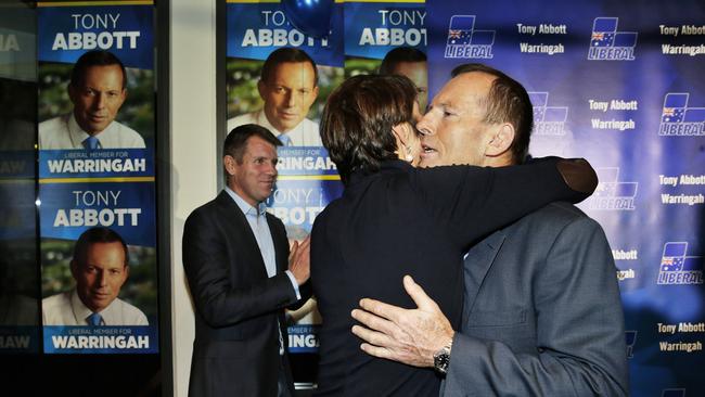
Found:
[[[231,0],[227,10],[227,132],[252,123],[285,146],[321,146],[318,120],[343,79],[342,4],[324,37],[296,29],[278,1]]]

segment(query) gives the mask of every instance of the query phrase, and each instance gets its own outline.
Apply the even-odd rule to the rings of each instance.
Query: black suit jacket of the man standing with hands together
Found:
[[[183,228],[183,267],[195,305],[195,341],[189,395],[275,396],[280,368],[293,394],[284,343],[284,308],[297,302],[284,271],[289,242],[284,225],[267,214],[277,276],[265,262],[245,216],[222,191],[191,213]],[[302,295],[305,289],[300,289]],[[304,302],[307,296],[302,296]],[[279,322],[278,322],[279,320]],[[283,359],[283,367],[281,361]]]

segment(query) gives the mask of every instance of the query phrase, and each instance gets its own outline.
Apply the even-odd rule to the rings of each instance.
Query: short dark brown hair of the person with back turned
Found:
[[[398,158],[392,128],[412,123],[416,88],[403,76],[355,76],[328,99],[321,139],[345,183],[354,171],[374,172]]]

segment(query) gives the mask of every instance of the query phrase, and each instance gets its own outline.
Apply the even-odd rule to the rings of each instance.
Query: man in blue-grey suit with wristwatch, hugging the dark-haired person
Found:
[[[524,88],[479,64],[452,76],[418,125],[425,135],[421,165],[520,163],[533,115]],[[463,118],[477,112],[507,128],[469,128]],[[628,394],[616,268],[594,220],[571,204],[550,204],[475,245],[464,268],[459,332],[407,277],[418,309],[362,299],[368,311],[354,312],[369,328],[354,328],[367,342],[362,349],[435,367],[445,376],[444,396]]]

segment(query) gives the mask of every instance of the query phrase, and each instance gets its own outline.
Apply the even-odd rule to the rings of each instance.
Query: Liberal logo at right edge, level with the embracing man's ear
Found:
[[[688,92],[669,92],[664,98],[659,136],[705,136],[705,107],[688,107]]]

